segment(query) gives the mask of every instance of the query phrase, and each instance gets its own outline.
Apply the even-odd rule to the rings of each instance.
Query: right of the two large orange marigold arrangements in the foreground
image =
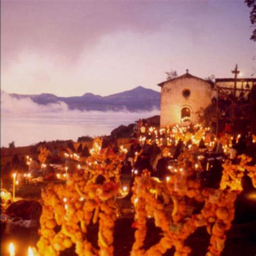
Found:
[[[183,160],[181,160],[183,159]],[[174,246],[174,255],[188,255],[191,248],[184,244],[185,239],[200,226],[206,226],[211,234],[208,256],[220,255],[226,240],[225,231],[231,227],[234,218],[236,194],[229,191],[206,189],[193,179],[196,172],[193,161],[181,157],[178,166],[182,171],[173,173],[170,179],[159,182],[146,173],[136,177],[133,190],[135,208],[135,242],[131,255],[162,255]],[[157,196],[156,196],[157,195]],[[199,214],[192,214],[185,198],[205,202]],[[170,212],[170,205],[172,211]],[[163,231],[163,237],[145,251],[147,217]]]

